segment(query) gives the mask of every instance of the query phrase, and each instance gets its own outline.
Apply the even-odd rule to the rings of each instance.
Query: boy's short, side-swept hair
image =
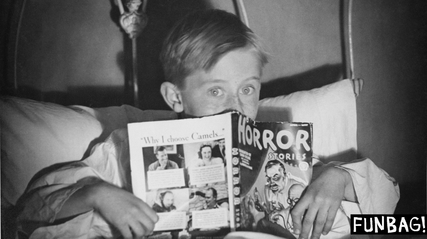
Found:
[[[267,54],[257,36],[236,15],[219,9],[195,11],[179,20],[160,54],[166,81],[184,89],[184,79],[196,70],[211,70],[228,52],[243,47],[257,50],[260,64]]]

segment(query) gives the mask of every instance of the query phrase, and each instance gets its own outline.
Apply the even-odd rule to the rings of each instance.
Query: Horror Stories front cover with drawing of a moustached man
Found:
[[[240,157],[232,169],[236,230],[294,238],[290,210],[311,180],[312,124],[233,114],[233,127]]]

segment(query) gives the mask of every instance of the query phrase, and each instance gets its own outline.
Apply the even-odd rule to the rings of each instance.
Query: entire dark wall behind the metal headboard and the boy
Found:
[[[112,0],[26,0],[21,12],[23,2],[0,2],[1,94],[90,107],[132,102],[125,84],[131,43],[117,26]],[[149,0],[149,24],[138,38],[142,109],[167,109],[158,92],[158,52],[176,19],[193,9],[232,12],[236,2]],[[249,26],[271,53],[261,98],[342,79],[340,0],[244,3]],[[355,76],[365,80],[357,98],[359,156],[399,181],[396,212],[426,213],[426,1],[353,4]],[[17,36],[19,16],[15,55],[10,39]]]

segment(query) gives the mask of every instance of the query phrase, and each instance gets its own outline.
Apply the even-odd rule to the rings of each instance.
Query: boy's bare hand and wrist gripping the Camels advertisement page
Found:
[[[94,210],[125,239],[148,236],[158,221],[157,214],[145,202],[130,192],[105,181],[98,181],[74,192],[56,214],[56,220]]]

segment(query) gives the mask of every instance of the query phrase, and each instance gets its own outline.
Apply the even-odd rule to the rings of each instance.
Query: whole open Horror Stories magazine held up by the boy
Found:
[[[238,112],[128,125],[133,193],[158,213],[152,238],[292,236],[312,175],[312,124]]]

